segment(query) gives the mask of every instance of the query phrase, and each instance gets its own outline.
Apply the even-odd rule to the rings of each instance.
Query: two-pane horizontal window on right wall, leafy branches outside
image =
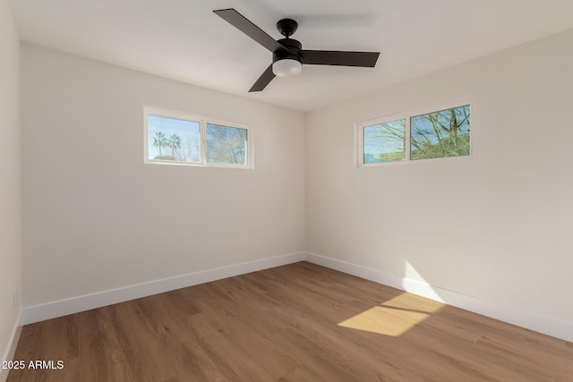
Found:
[[[470,105],[360,123],[360,165],[470,155]]]

